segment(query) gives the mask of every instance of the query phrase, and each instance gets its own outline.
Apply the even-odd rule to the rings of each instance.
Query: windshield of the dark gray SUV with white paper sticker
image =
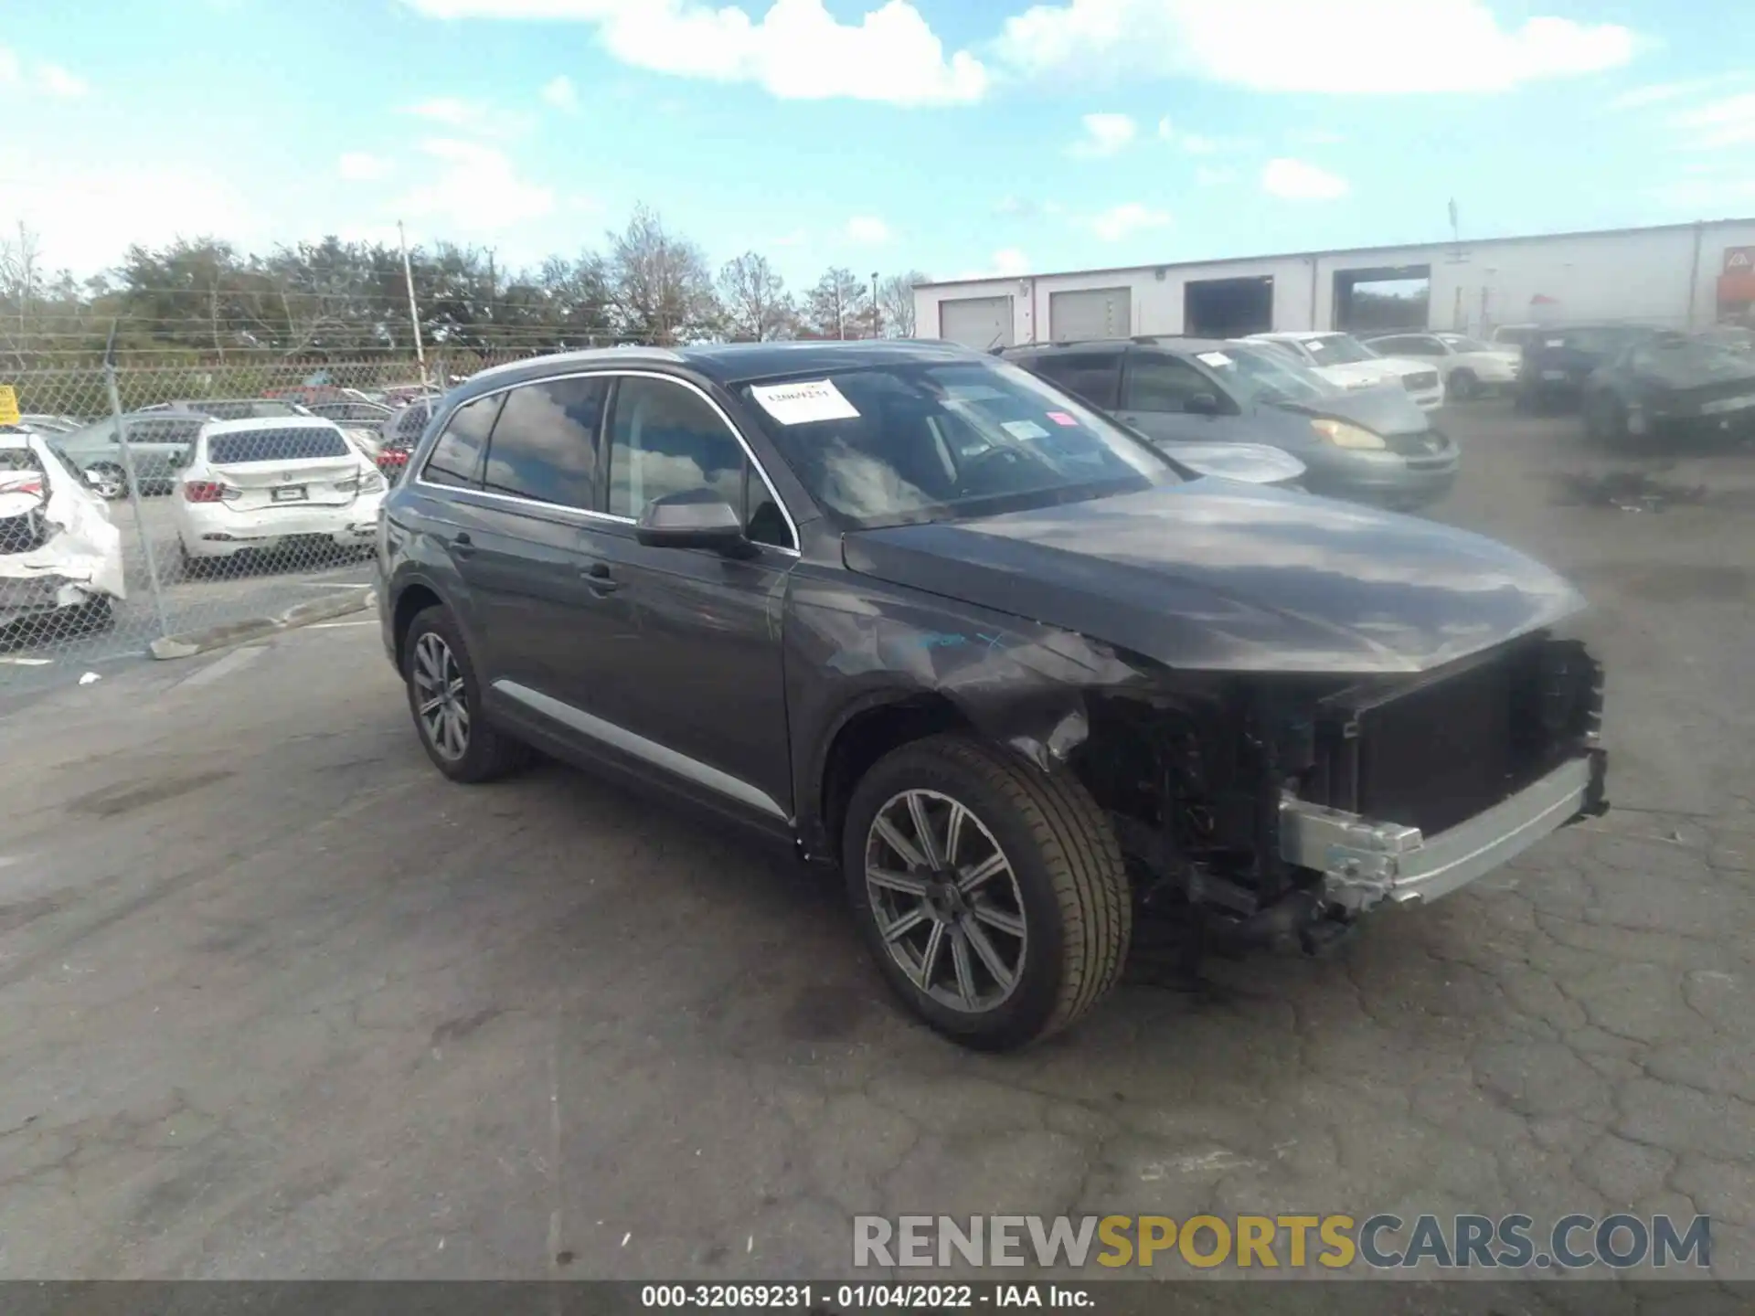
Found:
[[[1143,440],[1004,361],[869,367],[739,393],[811,497],[862,528],[1176,479]]]

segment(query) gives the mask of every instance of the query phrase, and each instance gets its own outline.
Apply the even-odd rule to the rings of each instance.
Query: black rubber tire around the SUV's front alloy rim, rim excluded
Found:
[[[1009,995],[993,1005],[960,1009],[921,990],[885,939],[881,902],[865,876],[867,853],[878,844],[872,828],[879,811],[914,790],[962,805],[979,825],[972,835],[1002,851],[1009,863],[1009,891],[1023,923],[1023,937],[1011,944],[1020,946],[1021,963]],[[1102,809],[1071,774],[1046,774],[965,735],[906,744],[879,760],[855,788],[842,832],[842,870],[855,918],[890,986],[914,1014],[963,1046],[1009,1051],[1049,1037],[1078,1021],[1121,976],[1134,919],[1127,870]],[[967,909],[981,900],[971,897]],[[925,912],[927,902],[921,898],[916,909]],[[962,926],[974,923],[981,919],[962,916]],[[895,928],[895,921],[888,926]],[[930,918],[916,926],[930,937]],[[974,949],[969,933],[956,928],[942,941],[953,951],[962,941],[965,962]],[[990,933],[985,941],[992,949]],[[921,949],[920,960],[928,962],[930,986],[932,953]]]

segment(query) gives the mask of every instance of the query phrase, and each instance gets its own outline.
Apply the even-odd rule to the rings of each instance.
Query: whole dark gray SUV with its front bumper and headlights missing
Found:
[[[379,572],[441,772],[534,746],[783,837],[971,1046],[1088,1011],[1137,907],[1190,948],[1314,949],[1604,807],[1562,579],[1190,477],[946,344],[479,374],[386,498]]]

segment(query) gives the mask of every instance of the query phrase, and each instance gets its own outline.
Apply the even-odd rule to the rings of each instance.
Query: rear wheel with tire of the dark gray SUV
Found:
[[[428,607],[409,625],[402,676],[421,747],[451,781],[493,781],[528,762],[521,742],[481,716],[481,683],[444,607]]]

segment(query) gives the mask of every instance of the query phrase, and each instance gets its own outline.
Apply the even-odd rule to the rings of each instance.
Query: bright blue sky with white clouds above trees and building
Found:
[[[934,277],[1755,212],[1748,0],[7,0],[0,226]]]

